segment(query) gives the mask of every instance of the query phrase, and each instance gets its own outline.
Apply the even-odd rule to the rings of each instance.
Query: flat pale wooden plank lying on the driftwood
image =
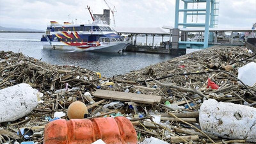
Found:
[[[116,92],[110,90],[96,90],[93,96],[100,97],[102,99],[115,99],[144,104],[153,104],[154,102],[160,102],[162,98],[161,96],[157,95],[142,95],[137,93]]]

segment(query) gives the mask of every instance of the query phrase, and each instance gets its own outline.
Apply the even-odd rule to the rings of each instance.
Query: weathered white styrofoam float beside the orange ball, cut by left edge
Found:
[[[26,83],[0,90],[0,123],[28,115],[37,106],[36,91]]]

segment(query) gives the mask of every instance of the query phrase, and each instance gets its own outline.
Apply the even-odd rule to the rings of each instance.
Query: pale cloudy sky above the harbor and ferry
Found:
[[[174,26],[175,0],[106,0],[115,6],[116,27]],[[0,26],[44,30],[51,20],[60,23],[73,20],[86,24],[92,19],[86,6],[94,14],[109,9],[104,0],[0,0]],[[189,8],[204,8],[202,4],[189,4]],[[183,3],[180,2],[180,8]],[[252,28],[256,23],[256,0],[220,0],[218,28]],[[69,15],[69,16],[68,16]],[[180,12],[179,21],[182,22]],[[113,19],[111,15],[111,19]],[[188,22],[202,23],[205,17],[188,16]],[[111,21],[113,23],[113,21]]]

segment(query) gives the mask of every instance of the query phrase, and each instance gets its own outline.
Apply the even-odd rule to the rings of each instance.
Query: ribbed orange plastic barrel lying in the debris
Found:
[[[124,116],[54,120],[45,126],[44,131],[44,144],[90,144],[99,139],[107,144],[135,144],[137,134]]]

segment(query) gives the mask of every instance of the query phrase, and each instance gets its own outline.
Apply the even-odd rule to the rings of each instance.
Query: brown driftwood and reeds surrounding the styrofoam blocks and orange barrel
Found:
[[[49,65],[20,53],[0,52],[0,89],[28,83],[44,94],[41,103],[28,116],[0,124],[3,127],[0,143],[24,141],[24,137],[16,134],[21,127],[33,129],[38,135],[31,136],[31,141],[42,143],[49,118],[53,118],[56,111],[67,114],[68,106],[76,100],[88,106],[88,118],[126,116],[137,131],[138,141],[154,136],[168,143],[245,143],[204,134],[200,130],[198,109],[209,98],[255,107],[256,88],[237,83],[237,69],[252,61],[256,61],[255,54],[245,47],[218,46],[122,76],[100,78],[84,68]],[[208,78],[220,88],[207,88]],[[148,102],[142,96],[140,101],[126,100],[118,94],[124,98],[120,99],[115,94],[104,95],[104,90],[129,92],[138,97],[146,94],[152,99],[156,96],[157,100],[161,96],[161,100]],[[92,93],[93,97],[85,92]],[[116,102],[115,106],[107,105],[111,102]],[[161,123],[156,122],[157,118]]]

